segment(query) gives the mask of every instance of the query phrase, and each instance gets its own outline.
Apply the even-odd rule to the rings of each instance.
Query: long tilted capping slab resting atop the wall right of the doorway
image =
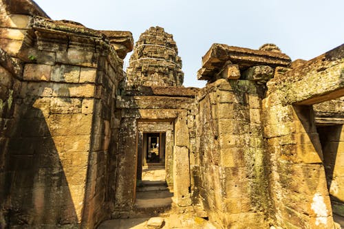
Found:
[[[240,70],[255,65],[288,67],[291,63],[286,54],[264,50],[251,50],[222,44],[213,44],[202,58],[202,68],[197,73],[199,80],[211,80],[221,71],[227,61],[239,65]]]

